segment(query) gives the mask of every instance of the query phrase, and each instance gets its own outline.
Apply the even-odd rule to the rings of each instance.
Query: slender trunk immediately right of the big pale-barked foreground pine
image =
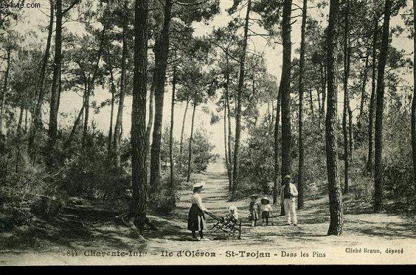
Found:
[[[342,112],[342,133],[344,135],[344,193],[349,191],[349,126],[347,122],[349,107],[349,0],[346,0],[344,20],[344,108]]]

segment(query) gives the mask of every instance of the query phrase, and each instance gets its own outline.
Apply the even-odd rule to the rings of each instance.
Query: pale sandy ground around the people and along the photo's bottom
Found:
[[[171,217],[150,216],[159,230],[147,232],[145,240],[139,239],[133,228],[117,227],[111,220],[93,227],[93,236],[89,237],[39,230],[24,235],[25,248],[3,250],[0,245],[0,264],[392,264],[414,260],[414,219],[366,214],[347,196],[344,234],[326,236],[329,213],[324,196],[306,201],[304,210],[298,211],[298,227],[285,226],[285,218],[276,217],[278,210],[273,226],[253,228],[247,220],[249,201],[227,201],[226,175],[207,173],[202,177],[207,182],[202,197],[209,211],[226,215],[231,204],[238,207],[241,239],[216,239],[219,235],[208,229],[206,236],[212,241],[190,241],[186,222],[191,192],[186,190],[178,194],[181,200]],[[208,228],[213,222],[208,218]],[[5,237],[0,235],[1,239]],[[16,234],[7,240],[13,241],[13,237],[17,238]],[[386,253],[389,248],[403,248],[403,253]],[[360,252],[352,253],[350,249]],[[122,252],[126,255],[120,255]]]

